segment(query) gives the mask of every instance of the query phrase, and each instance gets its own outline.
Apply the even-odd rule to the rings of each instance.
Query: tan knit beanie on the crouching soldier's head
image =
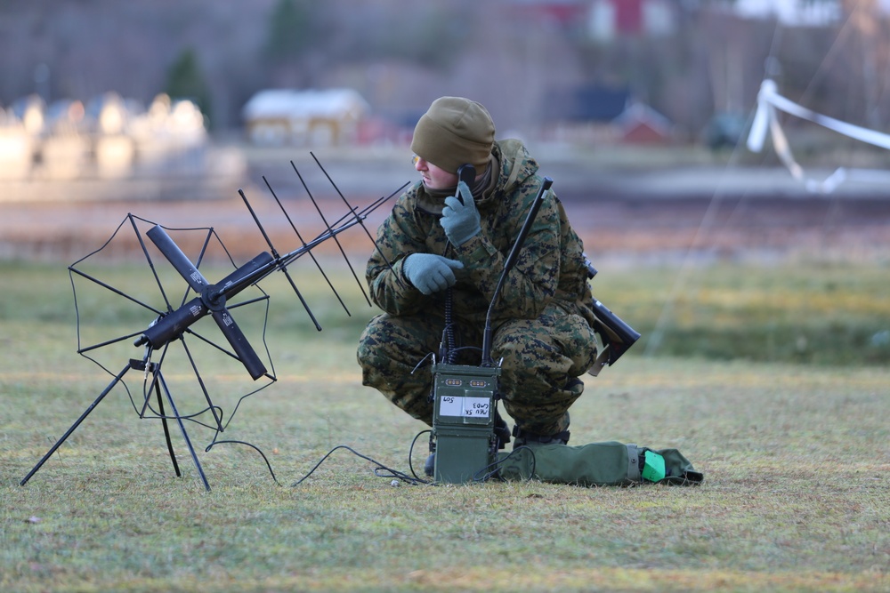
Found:
[[[411,150],[448,172],[469,163],[476,173],[489,164],[495,124],[486,108],[462,97],[441,97],[420,117]]]

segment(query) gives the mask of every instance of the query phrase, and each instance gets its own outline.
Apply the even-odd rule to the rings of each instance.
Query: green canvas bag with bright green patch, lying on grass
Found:
[[[656,451],[616,441],[517,447],[510,453],[498,453],[498,477],[587,487],[643,482],[697,485],[704,479],[676,449]]]

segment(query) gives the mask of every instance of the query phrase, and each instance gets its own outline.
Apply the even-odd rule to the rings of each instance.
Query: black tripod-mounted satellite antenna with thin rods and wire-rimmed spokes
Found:
[[[263,292],[263,297],[255,298],[255,299],[247,299],[246,301],[239,301],[237,303],[231,304],[231,300],[233,297],[237,296],[240,292],[245,291],[250,286],[254,286],[259,283],[263,278],[269,276],[272,272],[281,271],[287,276],[288,282],[293,287],[297,297],[303,303],[303,308],[312,318],[312,322],[315,324],[318,330],[321,330],[321,326],[319,325],[317,319],[312,315],[312,310],[309,308],[309,305],[306,303],[305,299],[301,292],[297,289],[296,283],[294,279],[290,276],[287,267],[294,262],[295,260],[302,257],[304,254],[308,253],[312,260],[315,261],[315,265],[320,269],[325,279],[328,281],[328,285],[334,291],[337,296],[337,299],[344,305],[343,300],[340,298],[340,295],[334,289],[333,284],[331,284],[328,276],[324,273],[324,270],[321,269],[320,262],[316,260],[315,256],[312,254],[312,248],[318,246],[319,244],[327,241],[328,239],[334,239],[337,246],[340,248],[340,252],[344,256],[344,260],[346,264],[349,266],[352,271],[352,276],[355,278],[356,282],[359,284],[362,294],[365,297],[365,300],[368,301],[370,305],[371,301],[368,298],[368,293],[365,292],[364,287],[359,281],[359,277],[356,274],[354,268],[352,268],[352,263],[350,263],[349,258],[346,255],[346,252],[343,248],[343,245],[340,244],[340,241],[337,237],[340,233],[352,228],[356,225],[361,226],[365,233],[370,237],[370,233],[368,232],[368,228],[364,226],[364,220],[368,217],[371,212],[374,212],[378,207],[387,202],[392,196],[396,196],[401,193],[401,191],[406,188],[409,184],[405,183],[398,188],[396,191],[392,192],[389,196],[382,196],[374,200],[371,204],[368,204],[361,210],[354,208],[349,202],[346,201],[346,198],[340,192],[340,189],[336,187],[334,180],[330,178],[328,172],[324,170],[324,167],[321,165],[319,160],[312,155],[312,158],[315,160],[316,164],[319,165],[320,169],[325,173],[325,176],[330,181],[331,185],[336,189],[337,194],[341,197],[346,204],[348,209],[348,213],[344,216],[340,217],[338,220],[333,223],[328,222],[324,213],[321,211],[319,204],[316,202],[314,196],[312,196],[312,192],[309,190],[309,187],[306,185],[303,180],[303,176],[296,169],[296,165],[291,161],[291,165],[294,168],[294,171],[297,173],[297,176],[300,178],[300,181],[303,183],[303,188],[306,189],[306,192],[309,194],[309,198],[312,200],[312,204],[315,206],[315,209],[318,211],[321,220],[324,222],[325,230],[322,231],[318,236],[310,241],[306,241],[303,239],[303,236],[297,231],[293,220],[291,220],[290,216],[287,214],[283,204],[280,202],[278,196],[272,190],[270,183],[268,180],[263,178],[263,181],[266,184],[266,187],[271,191],[272,196],[275,198],[275,201],[279,204],[279,208],[286,216],[288,222],[293,228],[297,239],[300,242],[299,247],[294,249],[291,252],[281,253],[272,244],[271,237],[266,232],[265,228],[263,228],[263,224],[259,220],[259,217],[256,215],[253,207],[250,202],[247,200],[247,196],[244,191],[239,189],[239,195],[241,199],[244,201],[244,204],[247,206],[248,212],[250,212],[251,217],[253,218],[257,228],[259,228],[260,233],[263,235],[263,239],[269,247],[269,251],[260,252],[256,255],[252,260],[247,261],[247,263],[236,267],[234,271],[232,271],[228,276],[223,277],[222,280],[216,283],[211,283],[204,274],[198,269],[201,265],[201,262],[204,260],[206,255],[206,250],[210,241],[211,236],[215,236],[215,232],[213,228],[190,228],[190,229],[179,229],[179,230],[206,230],[208,235],[206,236],[203,244],[201,245],[200,252],[198,254],[198,259],[195,262],[189,259],[189,257],[182,252],[179,245],[176,244],[174,239],[167,233],[167,228],[160,226],[157,223],[151,222],[150,220],[139,219],[142,222],[148,223],[151,225],[150,229],[144,232],[145,236],[148,236],[150,242],[154,244],[158,251],[166,258],[166,260],[170,263],[171,266],[175,269],[176,272],[179,273],[180,276],[185,280],[186,284],[188,284],[188,288],[185,290],[182,300],[179,303],[178,307],[175,307],[173,303],[167,297],[166,291],[164,290],[164,286],[160,281],[160,276],[158,276],[158,270],[155,268],[155,264],[152,261],[152,257],[150,254],[150,250],[148,248],[147,242],[143,240],[140,228],[136,224],[136,218],[133,214],[127,214],[127,220],[130,221],[135,236],[137,238],[138,244],[142,249],[142,254],[144,255],[146,261],[149,264],[151,274],[154,276],[155,283],[158,286],[158,290],[161,293],[162,299],[164,301],[166,310],[159,310],[155,307],[151,306],[147,301],[142,301],[140,298],[127,294],[125,291],[118,290],[113,287],[111,284],[104,283],[100,279],[90,276],[86,274],[84,271],[77,268],[77,266],[85,261],[87,258],[101,252],[105,247],[108,247],[111,243],[111,240],[117,236],[117,232],[124,227],[125,222],[121,222],[121,224],[117,227],[114,235],[106,241],[99,249],[91,252],[86,255],[84,258],[77,260],[74,264],[69,266],[69,274],[71,276],[72,288],[75,287],[74,278],[75,276],[85,278],[85,280],[92,282],[95,285],[101,286],[102,288],[109,290],[117,294],[118,296],[124,297],[125,299],[133,302],[134,304],[142,307],[147,311],[150,311],[156,317],[150,323],[150,325],[142,330],[141,332],[136,333],[126,333],[122,337],[118,337],[117,339],[101,341],[99,343],[94,343],[91,346],[82,346],[81,344],[81,323],[80,323],[80,313],[77,311],[77,289],[75,288],[75,309],[77,313],[77,352],[81,356],[90,358],[97,365],[100,365],[101,368],[109,374],[113,375],[113,379],[110,381],[109,385],[104,389],[101,394],[96,398],[92,405],[90,405],[84,413],[71,425],[68,431],[53,445],[53,447],[44,455],[44,457],[37,462],[34,469],[28,473],[26,477],[24,477],[20,481],[20,485],[25,485],[28,480],[36,473],[38,469],[40,469],[44,462],[47,461],[53,453],[58,450],[58,448],[65,442],[65,440],[77,429],[82,421],[85,420],[86,416],[93,411],[93,409],[99,405],[101,400],[106,397],[109,392],[114,389],[118,382],[123,381],[125,373],[130,370],[136,370],[144,373],[143,380],[143,395],[145,397],[144,402],[142,403],[142,410],[137,409],[137,413],[139,413],[140,418],[144,417],[148,411],[154,413],[157,418],[159,418],[164,426],[164,432],[166,437],[167,449],[170,453],[170,459],[174,464],[174,469],[176,471],[176,475],[180,476],[179,466],[176,462],[176,457],[174,454],[174,448],[170,441],[170,435],[167,427],[167,421],[173,420],[175,421],[180,429],[182,430],[182,437],[185,440],[185,444],[187,445],[191,459],[194,461],[196,468],[198,469],[198,473],[200,474],[201,480],[203,481],[207,490],[210,490],[210,485],[207,482],[206,476],[204,474],[204,469],[201,467],[200,461],[198,461],[198,455],[195,450],[195,447],[191,444],[188,432],[185,429],[185,421],[193,421],[198,423],[200,426],[204,426],[206,428],[211,428],[216,431],[216,434],[220,434],[225,429],[225,426],[231,422],[231,416],[229,417],[229,421],[226,421],[223,424],[222,421],[222,408],[217,407],[213,404],[210,398],[209,392],[206,390],[205,383],[200,373],[198,373],[198,365],[196,365],[195,360],[192,357],[191,351],[188,347],[188,344],[185,341],[186,334],[189,336],[195,337],[200,341],[204,341],[210,346],[213,346],[216,349],[222,350],[225,354],[238,359],[242,365],[247,369],[247,373],[250,377],[256,381],[261,377],[265,376],[270,381],[276,381],[274,376],[274,369],[271,374],[266,370],[265,365],[263,364],[263,360],[256,354],[255,349],[250,345],[247,341],[247,337],[236,323],[235,318],[232,316],[231,310],[239,308],[243,305],[250,304],[256,301],[268,301],[268,295],[263,292],[262,289],[259,289],[260,292]],[[218,238],[218,237],[217,237]],[[376,242],[373,241],[375,244]],[[223,245],[223,250],[225,249]],[[378,248],[379,249],[379,248]],[[226,252],[228,255],[228,252]],[[231,256],[229,256],[229,260],[231,260]],[[234,261],[232,260],[234,264]],[[388,262],[387,262],[388,263]],[[392,268],[392,266],[390,266]],[[259,287],[257,287],[259,288]],[[195,292],[196,295],[189,299],[190,292]],[[344,309],[346,309],[344,305]],[[348,309],[346,310],[347,315],[349,314]],[[267,309],[268,315],[268,309]],[[229,346],[234,351],[232,354],[230,351],[225,349],[222,345],[214,343],[202,336],[198,332],[193,332],[190,330],[190,326],[195,324],[199,319],[210,316],[214,318],[216,325],[218,325],[220,332],[223,333],[223,337],[229,343]],[[265,332],[265,328],[263,328],[263,334]],[[111,345],[117,344],[121,341],[125,340],[134,340],[134,346],[145,347],[144,355],[142,358],[130,358],[125,362],[124,367],[121,369],[119,373],[113,373],[109,370],[109,368],[98,362],[96,358],[91,358],[87,356],[88,352],[92,352],[94,350],[99,350],[105,347],[109,347]],[[179,412],[179,409],[174,403],[174,397],[171,393],[169,386],[167,385],[163,373],[161,372],[161,367],[164,365],[164,361],[166,360],[167,354],[167,345],[174,341],[182,341],[182,348],[185,350],[185,355],[188,358],[188,362],[190,364],[190,368],[192,373],[195,374],[195,378],[200,383],[201,391],[204,393],[204,396],[207,400],[208,408],[214,415],[214,425],[210,426],[202,421],[198,421],[197,417],[205,413],[206,410],[199,412],[197,414],[182,414]],[[160,360],[155,362],[151,360],[151,353],[153,350],[163,349]],[[267,352],[268,354],[268,352]],[[129,393],[129,389],[127,389]],[[252,393],[263,389],[262,387],[259,389],[255,389]],[[247,394],[251,395],[251,394]],[[154,408],[150,406],[150,397],[157,397],[158,399],[158,410],[156,411]],[[244,396],[247,397],[247,396]],[[242,397],[242,399],[244,398]],[[165,399],[166,398],[166,399]],[[132,397],[131,397],[132,399]],[[170,413],[165,413],[164,408],[166,401],[167,405],[169,405]],[[134,406],[135,407],[135,406]],[[236,406],[237,410],[237,406]],[[234,415],[234,412],[231,414]],[[217,443],[214,437],[214,444]],[[249,445],[249,444],[247,444]],[[211,445],[213,446],[213,445]],[[253,445],[250,445],[253,446]],[[206,451],[209,451],[210,447],[206,448]],[[262,453],[261,453],[262,454]],[[264,457],[264,456],[263,456]]]

